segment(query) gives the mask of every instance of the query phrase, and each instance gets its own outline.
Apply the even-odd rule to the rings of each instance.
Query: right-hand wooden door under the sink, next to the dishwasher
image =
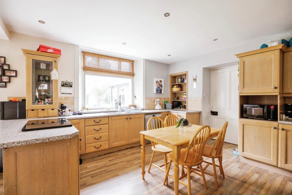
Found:
[[[140,132],[145,130],[144,114],[129,115],[129,144],[140,141]]]

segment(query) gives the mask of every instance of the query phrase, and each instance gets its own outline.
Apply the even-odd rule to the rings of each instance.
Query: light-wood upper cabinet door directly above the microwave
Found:
[[[239,93],[279,92],[279,52],[267,51],[239,58]]]

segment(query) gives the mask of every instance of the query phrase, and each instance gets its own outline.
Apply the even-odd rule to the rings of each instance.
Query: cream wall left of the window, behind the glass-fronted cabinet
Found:
[[[10,40],[0,40],[0,56],[6,57],[6,63],[10,64],[12,70],[17,70],[17,77],[12,77],[11,82],[7,83],[6,88],[0,88],[0,101],[7,101],[7,96],[26,96],[26,69],[25,55],[21,49],[36,50],[39,44],[59,48],[62,50],[62,56],[58,63],[59,71],[59,96],[74,96],[61,94],[61,81],[74,82],[74,45],[32,37],[24,34],[11,32]],[[73,89],[74,90],[74,89]]]

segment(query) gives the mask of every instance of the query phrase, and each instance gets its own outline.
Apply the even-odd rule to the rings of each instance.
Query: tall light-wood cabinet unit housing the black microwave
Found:
[[[292,170],[292,125],[279,124],[292,102],[292,48],[284,44],[236,55],[239,58],[239,155]],[[283,73],[284,70],[284,73]],[[243,104],[277,105],[278,120],[243,117]]]

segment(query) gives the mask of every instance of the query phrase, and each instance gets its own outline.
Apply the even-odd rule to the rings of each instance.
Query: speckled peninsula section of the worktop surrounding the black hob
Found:
[[[0,120],[0,148],[68,139],[79,134],[74,126],[22,132],[28,120],[32,119]]]

